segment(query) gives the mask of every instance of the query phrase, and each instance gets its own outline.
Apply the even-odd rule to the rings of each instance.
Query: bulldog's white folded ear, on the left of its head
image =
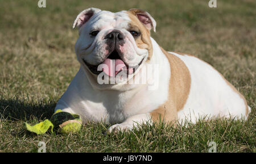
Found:
[[[79,15],[77,15],[76,20],[73,23],[73,28],[77,27],[81,27],[83,24],[85,24],[94,14],[96,14],[97,12],[100,12],[100,9],[97,8],[89,8],[89,9],[85,9],[82,12],[80,12]]]

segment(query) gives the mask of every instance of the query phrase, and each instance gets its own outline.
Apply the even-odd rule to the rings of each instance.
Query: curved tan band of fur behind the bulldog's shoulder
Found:
[[[151,112],[151,116],[153,121],[158,121],[160,118],[165,122],[172,122],[177,119],[177,112],[183,109],[187,101],[191,87],[191,75],[179,57],[166,52],[163,48],[161,49],[170,62],[169,95],[168,100],[162,106]]]

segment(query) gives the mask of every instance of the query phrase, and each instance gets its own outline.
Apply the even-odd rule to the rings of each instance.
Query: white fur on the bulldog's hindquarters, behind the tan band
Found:
[[[179,121],[195,123],[203,117],[246,118],[246,104],[225,79],[212,66],[199,58],[180,55],[191,74],[191,90],[183,110],[178,112]]]

